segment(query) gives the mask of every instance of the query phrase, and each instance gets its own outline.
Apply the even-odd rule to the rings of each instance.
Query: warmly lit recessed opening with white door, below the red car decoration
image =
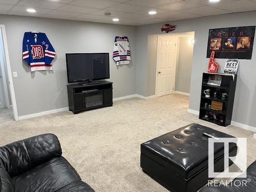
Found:
[[[194,36],[195,32],[148,36],[148,62],[155,66],[157,97],[174,93],[189,96]]]

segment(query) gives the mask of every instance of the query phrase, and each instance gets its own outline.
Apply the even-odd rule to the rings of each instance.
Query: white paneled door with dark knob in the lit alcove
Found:
[[[156,95],[174,93],[176,66],[176,39],[169,35],[158,35]]]

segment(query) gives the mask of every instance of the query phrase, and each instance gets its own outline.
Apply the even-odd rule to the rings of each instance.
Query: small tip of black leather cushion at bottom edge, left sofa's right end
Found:
[[[83,181],[74,181],[56,192],[94,192],[94,190]]]

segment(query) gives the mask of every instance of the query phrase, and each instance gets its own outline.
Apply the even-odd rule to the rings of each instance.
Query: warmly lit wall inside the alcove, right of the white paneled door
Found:
[[[190,93],[191,67],[193,62],[193,48],[189,40],[194,38],[179,37],[179,55],[175,75],[175,91]]]

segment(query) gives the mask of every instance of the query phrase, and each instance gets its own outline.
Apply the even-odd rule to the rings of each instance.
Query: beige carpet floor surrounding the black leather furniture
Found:
[[[256,160],[253,132],[221,127],[187,113],[188,97],[168,95],[114,102],[113,107],[73,115],[61,112],[0,123],[0,145],[43,134],[56,134],[63,156],[96,191],[167,191],[140,168],[140,144],[189,123],[200,123],[247,138],[248,165]]]

